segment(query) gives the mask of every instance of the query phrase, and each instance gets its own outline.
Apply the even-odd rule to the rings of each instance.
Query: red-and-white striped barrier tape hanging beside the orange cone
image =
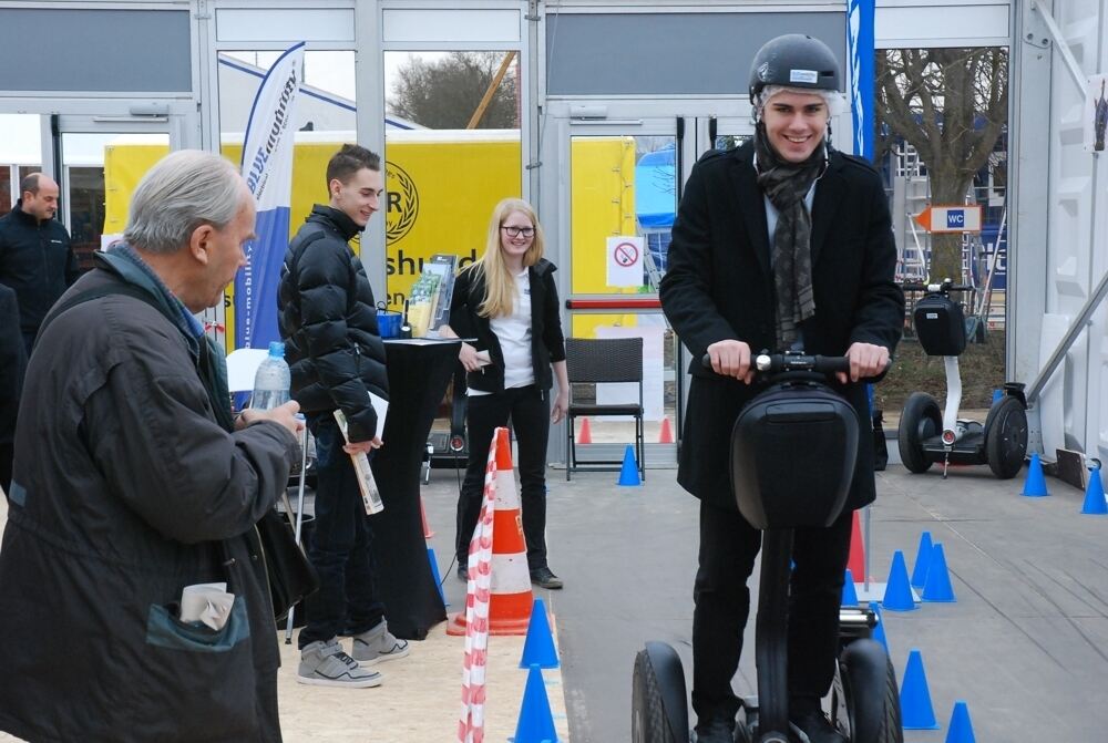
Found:
[[[485,465],[484,496],[473,539],[470,540],[465,612],[465,656],[462,662],[462,714],[458,722],[459,743],[484,741],[485,664],[489,650],[489,598],[492,584],[493,514],[496,499],[496,442],[507,437],[497,429]],[[450,632],[453,623],[448,626]]]

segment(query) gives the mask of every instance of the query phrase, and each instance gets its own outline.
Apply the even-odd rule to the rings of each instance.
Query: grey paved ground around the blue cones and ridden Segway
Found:
[[[551,560],[566,579],[558,615],[574,743],[629,739],[630,669],[647,639],[690,662],[696,506],[671,471],[642,488],[609,474],[552,479]],[[922,651],[944,741],[956,699],[968,702],[979,741],[1102,741],[1108,708],[1108,518],[1079,514],[1084,494],[1049,479],[1051,497],[1019,495],[1023,476],[998,482],[986,467],[879,475],[870,557],[883,580],[896,549],[911,567],[920,533],[944,544],[957,601],[886,612],[897,673]],[[748,632],[748,644],[752,639]],[[688,673],[688,669],[686,669]],[[743,658],[735,681],[753,693]]]

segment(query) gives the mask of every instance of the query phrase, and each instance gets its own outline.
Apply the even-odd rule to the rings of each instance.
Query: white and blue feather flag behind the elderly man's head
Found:
[[[304,69],[304,42],[286,50],[266,73],[243,142],[243,178],[258,209],[257,239],[235,277],[235,348],[267,348],[277,332],[277,283],[288,248],[293,196],[293,125]]]

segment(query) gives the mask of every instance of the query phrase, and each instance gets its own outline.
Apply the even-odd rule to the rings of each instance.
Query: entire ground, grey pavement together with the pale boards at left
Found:
[[[646,640],[677,648],[688,675],[697,502],[676,485],[675,474],[652,469],[644,486],[619,487],[617,473],[576,474],[567,484],[562,471],[551,471],[550,559],[566,588],[536,596],[555,617],[563,667],[546,673],[546,687],[563,742],[629,740],[632,664]],[[885,612],[897,674],[909,650],[919,648],[942,725],[907,731],[907,743],[945,741],[955,700],[967,701],[983,742],[1108,737],[1101,701],[1108,682],[1108,517],[1080,515],[1084,494],[1054,478],[1047,479],[1050,497],[1024,497],[1023,481],[1023,474],[996,481],[987,467],[955,468],[946,481],[937,473],[909,475],[895,464],[878,475],[869,549],[873,579],[885,579],[896,549],[911,569],[926,529],[944,545],[957,597],[954,603]],[[448,571],[456,491],[451,469],[434,469],[423,488],[435,530],[429,544],[451,609],[464,594]],[[522,638],[502,642],[497,670],[490,668],[490,705],[495,699],[499,709],[490,715],[486,740],[514,733],[525,681],[514,667],[521,647]],[[390,665],[382,668],[388,681],[379,689],[309,690],[291,682],[295,662],[286,652],[286,741],[453,740],[460,643],[433,632],[417,643],[412,658]],[[745,653],[735,687],[753,693],[752,653]],[[336,725],[310,724],[320,720]]]

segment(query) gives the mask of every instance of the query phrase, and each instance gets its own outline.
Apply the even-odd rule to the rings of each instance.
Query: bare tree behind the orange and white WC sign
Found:
[[[964,203],[1008,120],[1008,50],[889,49],[876,63],[879,127],[919,152],[933,204]],[[957,280],[961,236],[934,235],[931,247],[931,278]]]

